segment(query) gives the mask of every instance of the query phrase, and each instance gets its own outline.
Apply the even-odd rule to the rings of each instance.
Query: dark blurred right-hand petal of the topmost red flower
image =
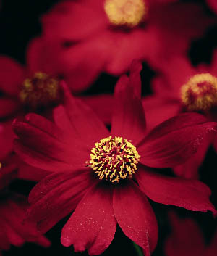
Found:
[[[192,39],[202,36],[214,22],[202,5],[192,2],[158,4],[150,12],[150,26],[158,34],[162,58],[186,54]]]

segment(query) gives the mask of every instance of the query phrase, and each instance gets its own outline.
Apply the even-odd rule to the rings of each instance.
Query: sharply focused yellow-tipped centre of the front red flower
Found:
[[[90,154],[90,167],[98,178],[112,183],[132,178],[140,155],[127,139],[111,136],[95,143]]]

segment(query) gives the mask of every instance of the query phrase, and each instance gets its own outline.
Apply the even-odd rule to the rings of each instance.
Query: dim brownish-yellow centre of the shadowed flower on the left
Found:
[[[59,99],[59,81],[45,73],[35,73],[22,84],[20,99],[31,110],[48,107]]]

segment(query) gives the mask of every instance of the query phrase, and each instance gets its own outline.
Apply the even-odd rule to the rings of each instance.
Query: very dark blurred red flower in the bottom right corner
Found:
[[[217,232],[206,245],[203,233],[195,220],[179,218],[170,212],[171,234],[165,243],[166,256],[214,256],[217,254]]]

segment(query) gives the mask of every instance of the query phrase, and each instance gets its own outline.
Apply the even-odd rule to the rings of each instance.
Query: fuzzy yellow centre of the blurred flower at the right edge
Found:
[[[181,93],[187,110],[207,112],[217,106],[217,78],[209,73],[194,75],[182,86]]]

